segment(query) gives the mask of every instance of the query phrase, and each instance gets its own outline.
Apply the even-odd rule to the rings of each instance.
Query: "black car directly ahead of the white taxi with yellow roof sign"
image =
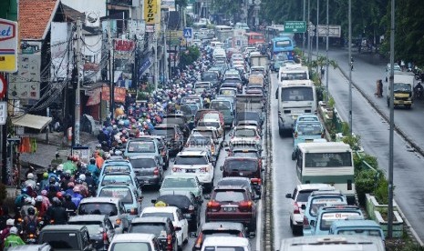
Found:
[[[187,191],[165,191],[160,193],[157,199],[152,199],[151,203],[158,201],[166,203],[168,206],[180,208],[182,216],[189,222],[189,230],[196,231],[201,223],[202,202]]]

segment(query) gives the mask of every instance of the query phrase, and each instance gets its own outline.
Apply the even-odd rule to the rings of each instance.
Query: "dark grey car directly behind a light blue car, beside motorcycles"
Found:
[[[141,186],[158,186],[162,184],[164,175],[158,156],[131,156],[129,162]]]

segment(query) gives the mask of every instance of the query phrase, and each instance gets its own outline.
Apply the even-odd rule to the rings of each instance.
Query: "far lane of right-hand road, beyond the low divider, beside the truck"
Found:
[[[328,52],[329,58],[336,60],[338,66],[344,71],[345,75],[349,74],[348,55],[346,49],[332,49]],[[377,109],[386,117],[389,117],[389,109],[387,103],[388,82],[385,82],[386,67],[388,62],[379,59],[379,55],[358,55],[352,54],[354,57],[354,71],[352,71],[352,82],[361,89],[367,98],[370,99]],[[377,56],[377,58],[376,58]],[[377,79],[383,80],[383,97],[375,97],[377,90]],[[334,82],[337,83],[337,82]],[[331,85],[331,82],[330,84]],[[414,101],[412,109],[398,107],[395,109],[396,126],[408,136],[414,144],[424,150],[424,134],[422,133],[422,117],[424,116],[424,101]]]

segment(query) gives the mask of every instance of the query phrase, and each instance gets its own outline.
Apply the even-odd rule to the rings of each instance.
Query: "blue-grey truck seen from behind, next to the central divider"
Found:
[[[235,125],[243,120],[255,120],[258,125],[263,125],[264,95],[237,95],[235,114]]]

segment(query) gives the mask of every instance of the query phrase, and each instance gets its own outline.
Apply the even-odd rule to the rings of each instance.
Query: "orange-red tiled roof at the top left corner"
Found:
[[[19,0],[19,35],[23,40],[44,40],[59,0]]]

